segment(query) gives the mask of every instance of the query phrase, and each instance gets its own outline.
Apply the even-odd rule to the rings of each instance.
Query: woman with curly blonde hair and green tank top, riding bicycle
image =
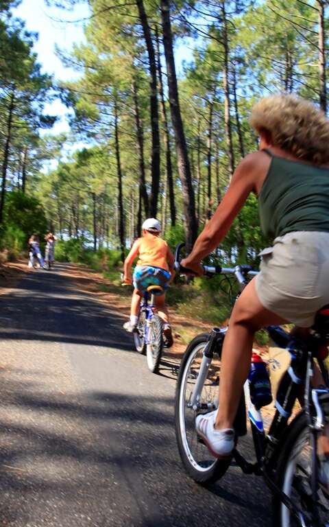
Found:
[[[255,331],[287,322],[308,328],[329,303],[329,121],[310,102],[273,95],[255,104],[250,124],[260,150],[236,168],[226,196],[182,261],[202,274],[202,259],[225,237],[247,196],[257,194],[263,232],[274,243],[234,305],[223,344],[218,411],[196,419],[198,434],[218,457],[234,447],[232,425]],[[328,431],[322,443],[328,484]]]

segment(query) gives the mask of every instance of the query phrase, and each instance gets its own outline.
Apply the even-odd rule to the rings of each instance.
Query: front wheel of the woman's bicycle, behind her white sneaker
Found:
[[[202,333],[188,344],[180,365],[175,394],[175,432],[182,463],[193,480],[206,484],[219,480],[230,466],[230,458],[217,459],[210,454],[195,430],[195,417],[218,406],[221,360],[215,355],[202,387],[198,408],[188,406],[199,375],[208,333]]]

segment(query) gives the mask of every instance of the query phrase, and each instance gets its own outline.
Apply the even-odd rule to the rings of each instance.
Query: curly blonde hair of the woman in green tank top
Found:
[[[269,132],[273,146],[317,165],[329,163],[329,120],[315,104],[295,95],[260,99],[249,119],[258,132]]]

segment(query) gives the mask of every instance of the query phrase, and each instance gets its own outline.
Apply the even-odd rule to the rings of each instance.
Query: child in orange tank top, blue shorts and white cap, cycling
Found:
[[[143,223],[142,229],[143,236],[136,239],[124,264],[123,283],[131,284],[132,264],[134,259],[137,256],[139,257],[133,276],[134,292],[132,294],[130,320],[123,325],[125,330],[130,332],[137,327],[141,296],[143,296],[149,285],[160,285],[165,291],[174,276],[173,255],[167,242],[160,238],[161,227],[158,220],[148,218]],[[165,294],[163,293],[155,297],[156,309],[163,321],[164,345],[171,347],[173,336],[164,296]]]

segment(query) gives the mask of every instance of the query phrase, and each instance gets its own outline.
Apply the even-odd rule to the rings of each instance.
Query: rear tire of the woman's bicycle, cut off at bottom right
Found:
[[[326,403],[324,405],[324,414],[326,417],[326,422],[328,423],[329,403]],[[287,429],[287,434],[284,434],[284,441],[282,441],[282,451],[278,460],[278,469],[276,471],[276,483],[278,484],[279,489],[289,495],[292,501],[294,500],[291,493],[295,492],[297,497],[298,490],[296,490],[296,488],[298,489],[299,487],[300,489],[307,489],[307,485],[309,484],[309,480],[307,479],[308,473],[304,467],[304,459],[302,458],[301,454],[303,441],[305,441],[305,438],[307,441],[307,436],[309,432],[310,429],[308,427],[308,419],[303,410],[300,412],[300,414],[297,415],[297,417],[295,417],[295,419],[293,419],[293,421],[291,421],[291,424]],[[310,450],[311,448],[312,447],[309,446],[308,450]],[[307,456],[310,456],[309,452],[308,454],[304,454],[305,460]],[[298,462],[298,460],[300,461]],[[321,491],[321,488],[319,489],[318,495],[319,499],[324,498],[326,500],[326,494]],[[301,500],[301,503],[297,503],[297,505],[302,508],[302,496],[299,495],[299,498]],[[324,523],[321,523],[321,527],[326,527],[326,525],[328,525],[327,522],[329,515],[329,495],[327,500],[327,506],[328,513],[326,514],[326,518],[324,517]],[[308,508],[306,504],[305,507],[306,509]],[[289,512],[287,507],[282,504],[278,495],[273,495],[272,508],[273,527],[293,527],[300,525],[299,523],[295,522],[295,520],[291,517],[291,513]]]

